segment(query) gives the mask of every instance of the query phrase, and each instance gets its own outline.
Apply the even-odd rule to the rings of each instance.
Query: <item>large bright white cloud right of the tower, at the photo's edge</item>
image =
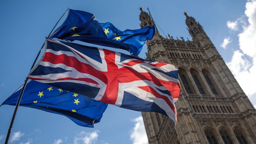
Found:
[[[239,85],[247,96],[256,94],[256,0],[246,3],[245,15],[248,24],[243,24],[243,31],[238,35],[241,51],[235,51],[232,60],[227,63]],[[249,56],[252,60],[244,58]]]

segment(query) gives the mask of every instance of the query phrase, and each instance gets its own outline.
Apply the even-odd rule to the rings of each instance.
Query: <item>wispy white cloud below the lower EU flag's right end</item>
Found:
[[[74,137],[74,144],[92,144],[97,141],[98,130],[94,132],[81,131],[77,137]]]

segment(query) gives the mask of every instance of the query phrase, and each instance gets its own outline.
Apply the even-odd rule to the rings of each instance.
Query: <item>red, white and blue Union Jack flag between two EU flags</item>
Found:
[[[107,49],[46,40],[29,79],[118,107],[164,114],[176,124],[178,69]]]

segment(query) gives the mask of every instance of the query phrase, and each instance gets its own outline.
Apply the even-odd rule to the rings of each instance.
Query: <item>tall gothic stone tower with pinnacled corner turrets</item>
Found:
[[[155,25],[140,8],[141,27]],[[181,83],[177,125],[159,113],[142,112],[149,144],[256,143],[256,111],[215,46],[193,17],[186,24],[192,41],[164,38],[147,42],[147,59],[173,63]]]

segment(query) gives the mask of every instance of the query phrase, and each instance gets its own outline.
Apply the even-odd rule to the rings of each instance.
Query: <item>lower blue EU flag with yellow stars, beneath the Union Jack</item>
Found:
[[[21,87],[2,105],[16,105],[20,92]],[[108,104],[31,80],[26,85],[20,106],[64,115],[80,126],[93,127],[94,123],[100,122]]]

